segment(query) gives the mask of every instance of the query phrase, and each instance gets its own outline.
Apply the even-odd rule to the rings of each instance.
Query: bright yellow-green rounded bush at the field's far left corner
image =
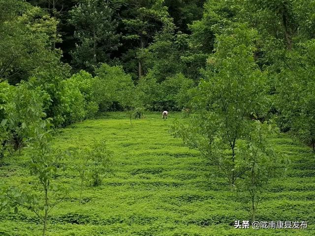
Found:
[[[44,100],[44,110],[57,127],[92,118],[98,111],[93,100],[94,78],[82,71],[66,79],[68,71],[67,65],[57,63],[55,68],[46,68],[31,79],[49,95]]]

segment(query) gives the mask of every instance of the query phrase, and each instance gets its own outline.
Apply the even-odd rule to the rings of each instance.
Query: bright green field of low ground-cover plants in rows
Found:
[[[285,135],[272,139],[292,162],[287,175],[273,179],[257,212],[258,221],[308,221],[306,230],[234,229],[234,220],[248,219],[237,196],[197,151],[183,147],[168,133],[181,114],[160,114],[130,121],[122,113],[71,125],[55,136],[61,149],[89,146],[106,139],[118,163],[114,177],[99,187],[86,186],[80,203],[80,181],[67,170],[58,181],[70,194],[50,214],[48,236],[314,236],[315,159],[310,148]],[[27,157],[6,157],[1,183],[17,185],[32,177]],[[75,159],[66,160],[69,166]],[[219,177],[218,177],[219,175]],[[0,213],[0,236],[39,236],[42,225],[27,210]]]

